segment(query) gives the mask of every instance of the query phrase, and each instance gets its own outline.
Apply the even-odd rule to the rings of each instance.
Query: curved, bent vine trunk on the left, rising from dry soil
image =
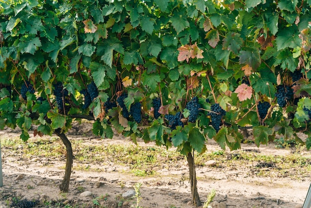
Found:
[[[65,176],[64,179],[60,185],[60,190],[62,192],[68,192],[69,190],[69,182],[70,182],[70,176],[71,176],[71,169],[73,166],[73,149],[71,146],[71,142],[67,138],[67,136],[61,132],[61,129],[56,129],[55,130],[56,135],[58,135],[63,143],[66,146],[66,169],[65,169]]]

